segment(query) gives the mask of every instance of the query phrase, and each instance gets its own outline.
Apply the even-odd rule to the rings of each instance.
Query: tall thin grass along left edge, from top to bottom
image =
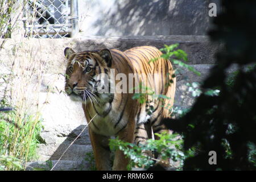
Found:
[[[2,38],[15,31],[15,22],[10,17],[19,16],[23,10],[14,2],[18,1],[0,0],[0,15],[5,17],[0,22],[0,46],[6,41]],[[0,112],[0,170],[25,169],[26,163],[36,157],[42,129],[39,92],[44,63],[34,60],[36,52],[26,43],[26,38],[16,40],[12,51],[8,58],[11,60],[10,72],[0,71],[0,108],[13,108],[9,112]],[[0,60],[0,66],[1,63],[3,60]],[[35,84],[31,86],[31,82]]]

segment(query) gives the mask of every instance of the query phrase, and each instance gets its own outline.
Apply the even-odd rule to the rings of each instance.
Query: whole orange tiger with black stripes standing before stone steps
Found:
[[[111,137],[144,144],[150,138],[158,139],[157,133],[171,132],[161,120],[170,117],[171,110],[167,106],[174,104],[176,77],[170,60],[163,59],[162,54],[158,48],[151,46],[126,51],[105,48],[75,52],[72,48],[65,48],[64,55],[68,62],[65,92],[71,100],[81,102],[97,170],[127,170],[130,159],[121,150],[114,152],[114,162],[111,164]],[[139,90],[142,90],[141,83],[149,82],[147,86],[152,93],[156,93],[154,91],[158,88],[158,93],[168,99],[144,94],[145,102],[140,102],[134,99],[133,89],[115,92],[113,85],[121,80],[115,78],[118,74],[136,75],[132,80],[139,81]],[[127,86],[128,82],[124,81],[120,88]],[[104,89],[114,89],[114,92],[102,92]],[[162,163],[168,164],[168,161]]]

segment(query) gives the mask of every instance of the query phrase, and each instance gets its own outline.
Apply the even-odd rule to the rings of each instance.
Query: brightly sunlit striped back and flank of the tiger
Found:
[[[133,64],[134,73],[144,73],[147,76],[146,79],[150,80],[147,87],[154,90],[155,94],[171,98],[163,101],[166,106],[173,105],[176,88],[175,71],[169,60],[160,57],[163,53],[158,48],[151,46],[131,48],[124,53]],[[142,82],[144,81],[142,80]],[[154,111],[158,111],[162,107],[159,104],[160,102],[155,106]],[[168,117],[168,115],[170,115],[169,110],[163,109],[163,117]]]

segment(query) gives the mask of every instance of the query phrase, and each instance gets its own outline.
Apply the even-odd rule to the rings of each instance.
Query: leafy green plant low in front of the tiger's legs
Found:
[[[110,149],[111,150],[121,150],[123,153],[129,157],[130,164],[128,169],[131,167],[144,167],[149,168],[155,162],[159,162],[159,159],[155,159],[145,154],[145,151],[154,151],[162,155],[162,159],[166,160],[171,158],[174,162],[180,161],[180,166],[183,165],[183,160],[185,159],[184,152],[180,151],[182,140],[177,139],[177,134],[156,134],[159,139],[153,140],[148,139],[146,144],[139,144],[137,146],[133,143],[123,142],[122,140],[110,139]]]

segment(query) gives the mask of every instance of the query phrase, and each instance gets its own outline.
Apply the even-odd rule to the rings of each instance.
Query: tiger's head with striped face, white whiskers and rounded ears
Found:
[[[108,49],[101,51],[75,52],[65,48],[68,59],[65,80],[65,92],[73,101],[98,102],[108,97],[104,92],[109,85],[109,73],[112,56]],[[104,93],[104,94],[103,94]]]

